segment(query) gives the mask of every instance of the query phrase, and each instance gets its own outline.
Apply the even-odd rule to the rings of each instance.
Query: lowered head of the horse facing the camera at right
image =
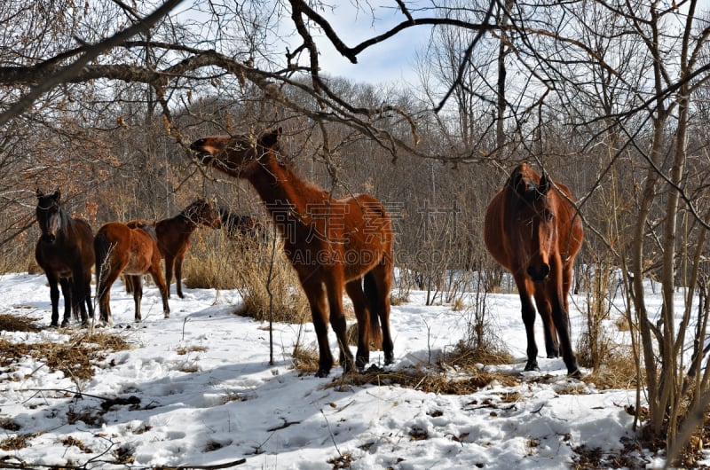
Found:
[[[544,172],[535,182],[532,169],[526,174],[527,166],[523,167],[512,178],[517,194],[513,226],[517,231],[518,257],[533,282],[543,282],[550,273],[549,260],[556,249],[555,192],[550,192],[551,182]]]

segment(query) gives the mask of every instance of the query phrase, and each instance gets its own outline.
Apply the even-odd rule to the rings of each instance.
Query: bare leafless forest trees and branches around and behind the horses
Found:
[[[2,2],[0,273],[37,269],[37,189],[60,188],[94,230],[169,217],[196,198],[266,221],[248,184],[197,165],[189,145],[280,127],[304,179],[383,201],[398,293],[454,302],[454,272],[481,292],[509,292],[482,228],[493,194],[526,161],[569,186],[583,217],[575,290],[593,299],[589,366],[605,361],[600,325],[620,292],[648,403],[637,418],[669,447],[685,443],[710,403],[710,5],[350,4],[367,24],[384,12],[395,20],[348,43],[340,7],[320,0]],[[411,51],[413,82],[321,71],[326,48],[357,67],[411,29],[429,38]],[[232,248],[217,247],[217,231],[200,237],[186,263],[210,271],[204,284],[245,276],[219,255]],[[659,313],[644,279],[662,294]]]

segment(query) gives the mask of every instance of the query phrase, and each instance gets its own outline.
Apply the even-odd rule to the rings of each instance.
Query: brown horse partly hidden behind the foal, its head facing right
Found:
[[[127,225],[135,228],[146,223],[148,222],[130,221]],[[193,231],[200,225],[213,229],[222,226],[217,209],[209,201],[201,199],[194,200],[178,215],[154,223],[155,233],[158,237],[158,248],[165,259],[165,283],[170,287],[174,271],[177,296],[181,299],[184,297],[182,276],[185,253],[190,247],[190,237]],[[128,283],[126,286],[130,289]]]

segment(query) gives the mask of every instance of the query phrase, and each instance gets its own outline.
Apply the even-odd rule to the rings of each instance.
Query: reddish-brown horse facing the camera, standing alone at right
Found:
[[[527,333],[525,371],[540,370],[533,329],[534,296],[544,325],[548,357],[562,352],[567,372],[579,377],[570,341],[567,296],[583,231],[581,217],[570,200],[572,192],[567,186],[553,183],[544,173],[540,177],[526,163],[518,165],[488,205],[484,240],[495,261],[516,280]]]

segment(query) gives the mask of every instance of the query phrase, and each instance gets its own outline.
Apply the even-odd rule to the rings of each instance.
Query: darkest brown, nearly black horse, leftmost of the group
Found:
[[[91,267],[94,265],[93,233],[83,219],[68,215],[61,208],[59,189],[51,194],[36,191],[36,216],[42,236],[37,240],[35,257],[50,284],[51,326],[59,325],[59,288],[64,295],[64,319],[69,312],[81,310],[82,325],[94,317],[91,303]]]

